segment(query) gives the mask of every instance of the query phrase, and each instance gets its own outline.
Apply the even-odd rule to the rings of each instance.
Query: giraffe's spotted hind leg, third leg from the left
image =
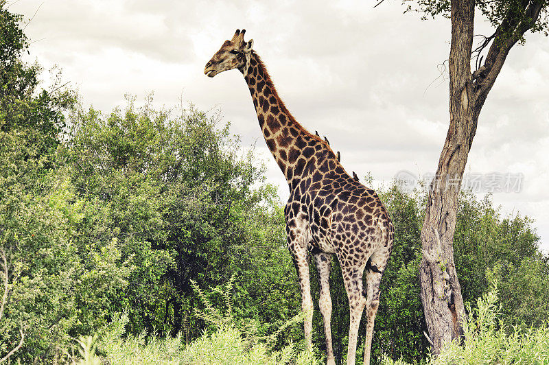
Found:
[[[362,311],[366,306],[366,298],[362,292],[362,273],[364,266],[359,267],[344,267],[342,264],[341,271],[345,290],[349,297],[349,349],[347,349],[347,365],[355,364],[356,343],[358,338],[358,327],[362,318]]]

